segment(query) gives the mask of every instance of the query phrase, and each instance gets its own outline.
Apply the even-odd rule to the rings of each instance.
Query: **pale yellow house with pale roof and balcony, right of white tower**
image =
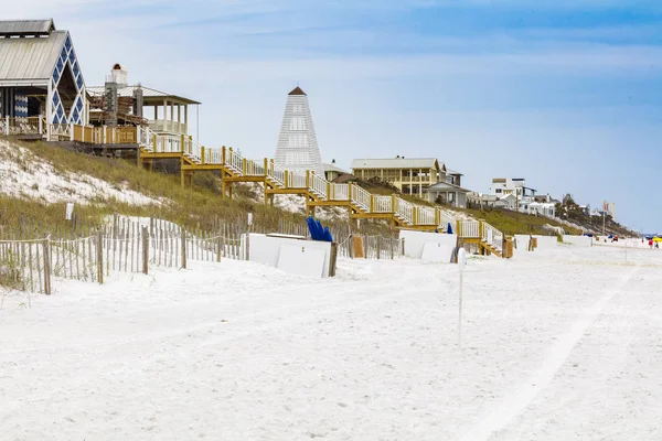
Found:
[[[403,194],[427,198],[428,189],[446,182],[446,165],[435,158],[355,159],[352,174],[362,180],[380,178]]]

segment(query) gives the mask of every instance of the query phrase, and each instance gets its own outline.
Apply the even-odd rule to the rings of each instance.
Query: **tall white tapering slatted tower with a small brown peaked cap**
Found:
[[[313,170],[316,174],[324,176],[308,95],[299,86],[287,96],[274,162],[286,170]]]

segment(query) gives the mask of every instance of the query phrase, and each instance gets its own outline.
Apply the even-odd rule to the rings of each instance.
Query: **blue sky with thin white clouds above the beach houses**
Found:
[[[473,191],[525,178],[662,230],[656,0],[23,0],[2,15],[71,31],[87,85],[121,63],[202,101],[205,146],[273,158],[299,84],[324,162],[434,157]]]

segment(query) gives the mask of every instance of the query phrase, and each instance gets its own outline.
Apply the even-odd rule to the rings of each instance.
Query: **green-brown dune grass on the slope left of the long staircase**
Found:
[[[118,190],[132,190],[159,201],[158,204],[137,206],[99,195],[99,202],[76,205],[77,224],[84,229],[102,225],[114,213],[153,216],[203,230],[213,230],[222,222],[244,225],[247,213],[253,214],[254,225],[274,230],[280,220],[303,224],[306,219],[302,214],[270,207],[261,200],[257,201],[256,192],[249,185],[235,185],[233,200],[222,197],[221,178],[215,172],[195,173],[193,187],[183,189],[179,173],[150,173],[138,168],[134,161],[95,157],[43,142],[18,146],[31,153],[23,155],[20,166],[29,168],[30,161],[47,161],[58,173],[92,175],[116,185]],[[67,232],[72,223],[64,219],[65,206],[65,202],[47,204],[0,195],[0,226],[14,232],[32,232],[33,236],[36,232]],[[343,227],[346,224],[346,218],[324,223]],[[387,228],[380,222],[363,224],[370,230]]]

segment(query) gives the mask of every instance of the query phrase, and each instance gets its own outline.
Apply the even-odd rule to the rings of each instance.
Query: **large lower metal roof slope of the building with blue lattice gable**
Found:
[[[53,31],[47,37],[0,39],[0,85],[51,78],[67,34]]]

